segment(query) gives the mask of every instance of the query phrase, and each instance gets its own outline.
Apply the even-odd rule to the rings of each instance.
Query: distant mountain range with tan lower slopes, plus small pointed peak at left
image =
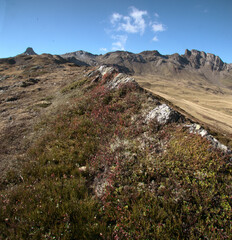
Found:
[[[23,55],[36,53],[29,47]],[[218,87],[232,89],[232,64],[224,63],[214,54],[194,49],[186,49],[183,55],[162,55],[154,50],[138,54],[116,51],[104,55],[76,51],[60,56],[79,66],[111,65],[117,67],[120,72],[132,75],[160,75],[190,80],[197,78]]]

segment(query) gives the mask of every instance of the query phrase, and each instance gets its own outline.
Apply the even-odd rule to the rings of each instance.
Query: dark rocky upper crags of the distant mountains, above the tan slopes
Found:
[[[175,66],[176,70],[181,70],[186,66],[201,68],[207,66],[211,70],[231,70],[232,64],[224,63],[220,57],[214,54],[205,53],[203,51],[186,49],[184,55],[178,53],[172,55],[162,55],[158,51],[144,51],[138,54],[116,51],[109,52],[104,55],[95,55],[85,51],[76,51],[61,55],[62,57],[74,62],[82,62],[84,65],[95,66],[99,64],[115,64],[125,66],[132,72],[138,72],[135,67],[138,64],[152,63],[153,67],[158,67],[164,64]],[[135,66],[131,66],[134,64]]]

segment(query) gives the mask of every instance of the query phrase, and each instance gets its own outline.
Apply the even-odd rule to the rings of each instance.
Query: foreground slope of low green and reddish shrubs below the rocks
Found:
[[[231,163],[178,123],[145,123],[158,101],[132,83],[65,87],[21,174],[0,194],[3,239],[230,239]],[[86,170],[81,167],[86,167]]]

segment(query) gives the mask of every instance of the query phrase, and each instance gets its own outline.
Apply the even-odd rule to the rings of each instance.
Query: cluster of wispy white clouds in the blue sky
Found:
[[[110,16],[111,29],[107,31],[114,40],[112,50],[125,50],[130,34],[138,34],[142,37],[146,31],[155,33],[152,41],[157,42],[157,34],[167,29],[163,23],[157,21],[159,17],[156,12],[151,17],[148,11],[136,7],[130,7],[127,15],[114,12]]]

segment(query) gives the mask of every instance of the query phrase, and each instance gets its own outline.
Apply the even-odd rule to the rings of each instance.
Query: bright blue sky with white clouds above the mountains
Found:
[[[232,0],[0,0],[0,58],[197,49],[232,63]]]

